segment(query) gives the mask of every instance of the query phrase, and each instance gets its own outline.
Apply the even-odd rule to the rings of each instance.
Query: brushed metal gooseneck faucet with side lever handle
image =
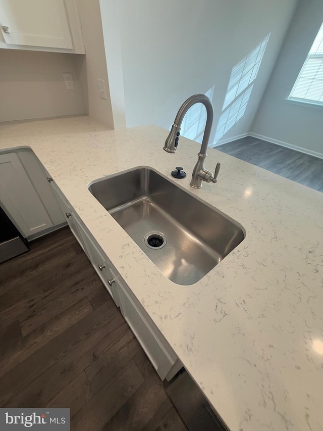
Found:
[[[207,156],[206,149],[207,149],[207,144],[210,137],[211,127],[213,122],[213,106],[211,101],[209,100],[208,97],[206,97],[205,94],[192,95],[180,107],[176,115],[174,124],[171,128],[170,134],[168,135],[165,141],[164,150],[167,151],[168,153],[176,153],[183,118],[187,113],[187,111],[190,109],[190,107],[195,105],[196,103],[202,103],[206,108],[206,124],[205,124],[205,130],[204,130],[201,149],[200,149],[200,152],[198,153],[198,161],[193,169],[190,186],[194,188],[201,188],[202,181],[217,182],[217,177],[221,166],[220,163],[217,164],[214,175],[212,174],[212,172],[204,168],[204,159]]]

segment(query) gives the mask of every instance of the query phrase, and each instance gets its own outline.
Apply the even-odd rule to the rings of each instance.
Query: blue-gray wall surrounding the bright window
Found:
[[[322,0],[301,0],[264,93],[253,133],[323,154],[323,109],[285,101],[323,21]]]

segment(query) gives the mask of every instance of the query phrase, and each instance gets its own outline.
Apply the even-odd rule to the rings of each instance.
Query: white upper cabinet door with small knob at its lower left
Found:
[[[0,0],[7,44],[73,49],[64,0]]]

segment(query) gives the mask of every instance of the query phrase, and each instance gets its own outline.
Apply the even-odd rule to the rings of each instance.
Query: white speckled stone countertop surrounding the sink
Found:
[[[1,125],[0,148],[32,148],[231,431],[323,430],[323,194],[214,149],[205,164],[221,162],[219,181],[194,190],[199,145],[181,137],[170,155],[167,134],[76,117]],[[87,190],[141,165],[246,230],[193,285],[161,274]]]

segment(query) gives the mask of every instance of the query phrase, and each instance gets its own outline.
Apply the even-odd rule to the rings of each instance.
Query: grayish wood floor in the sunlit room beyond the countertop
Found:
[[[224,143],[216,150],[323,191],[323,159],[251,136]]]

